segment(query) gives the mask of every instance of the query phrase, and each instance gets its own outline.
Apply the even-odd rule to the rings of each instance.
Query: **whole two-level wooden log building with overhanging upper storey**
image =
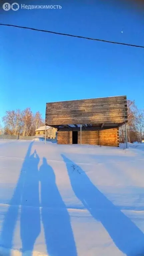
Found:
[[[126,122],[126,96],[46,103],[46,125],[57,129],[58,144],[81,140],[82,144],[119,146],[119,127]]]

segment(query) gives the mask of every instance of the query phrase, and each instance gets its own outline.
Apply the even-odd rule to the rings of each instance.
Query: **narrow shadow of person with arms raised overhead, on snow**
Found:
[[[40,233],[40,205],[39,205],[39,156],[36,151],[29,157],[25,169],[25,182],[21,200],[20,235],[22,252],[29,251],[32,255],[36,238]]]

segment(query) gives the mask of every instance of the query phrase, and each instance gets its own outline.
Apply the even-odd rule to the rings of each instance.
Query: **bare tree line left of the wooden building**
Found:
[[[31,108],[24,110],[8,110],[2,117],[4,128],[1,133],[5,135],[34,136],[35,130],[45,125],[39,111],[33,113]]]

